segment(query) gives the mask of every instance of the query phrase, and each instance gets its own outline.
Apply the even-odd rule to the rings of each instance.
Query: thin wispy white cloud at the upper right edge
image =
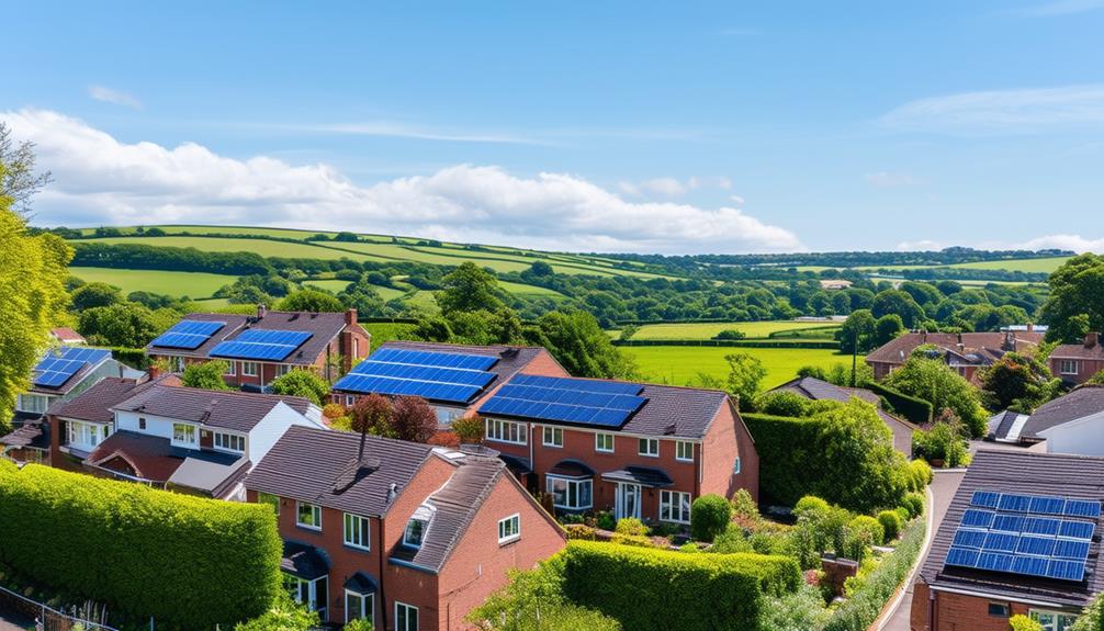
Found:
[[[1104,124],[1104,85],[969,92],[906,103],[879,119],[892,129],[984,136]]]

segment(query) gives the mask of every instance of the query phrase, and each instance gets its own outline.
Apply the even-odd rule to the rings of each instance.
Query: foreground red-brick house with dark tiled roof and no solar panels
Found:
[[[468,629],[464,617],[559,552],[555,521],[482,452],[289,429],[245,479],[270,503],[283,570],[323,621],[381,630]]]

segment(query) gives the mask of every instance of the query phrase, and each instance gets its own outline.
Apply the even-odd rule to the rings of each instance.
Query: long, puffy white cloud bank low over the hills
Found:
[[[577,175],[459,164],[359,185],[326,164],[235,160],[200,145],[125,143],[47,110],[0,113],[54,184],[38,221],[278,225],[598,252],[792,252],[792,232],[735,207],[628,202]]]

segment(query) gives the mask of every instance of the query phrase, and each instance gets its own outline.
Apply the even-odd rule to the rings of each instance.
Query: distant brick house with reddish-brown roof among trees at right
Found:
[[[917,346],[932,344],[947,365],[959,375],[976,383],[977,371],[991,366],[1005,353],[1025,353],[1037,349],[1043,333],[1031,324],[1025,330],[1010,328],[992,333],[928,333],[914,331],[895,338],[867,355],[867,363],[874,371],[875,379],[883,379],[907,361]]]

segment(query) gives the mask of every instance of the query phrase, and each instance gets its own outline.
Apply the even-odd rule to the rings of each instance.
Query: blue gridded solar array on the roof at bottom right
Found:
[[[976,491],[946,565],[1081,581],[1100,516],[1095,500]]]

